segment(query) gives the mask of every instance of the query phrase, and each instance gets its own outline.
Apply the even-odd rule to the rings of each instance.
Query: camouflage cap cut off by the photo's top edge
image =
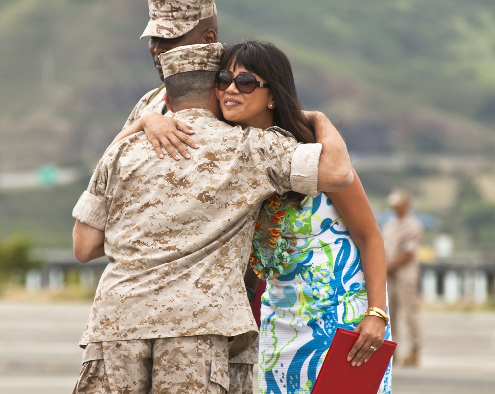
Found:
[[[140,38],[183,36],[201,19],[216,15],[214,0],[148,0],[149,22]]]

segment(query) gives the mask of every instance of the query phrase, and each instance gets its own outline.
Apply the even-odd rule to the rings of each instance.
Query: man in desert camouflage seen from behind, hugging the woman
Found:
[[[164,72],[208,79],[210,71],[214,97],[211,71],[223,48],[169,51]],[[183,66],[167,69],[174,63]],[[144,132],[134,134],[103,156],[74,208],[76,257],[110,260],[80,340],[74,393],[226,393],[228,358],[257,337],[243,275],[260,204],[290,189],[316,195],[335,178],[318,171],[328,164],[321,144],[299,144],[278,128],[231,127],[217,119],[216,100],[203,101],[171,115],[204,147],[191,160],[161,160]],[[326,155],[337,158],[331,148]]]

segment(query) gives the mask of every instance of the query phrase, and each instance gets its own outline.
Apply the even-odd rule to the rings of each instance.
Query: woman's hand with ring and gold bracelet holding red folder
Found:
[[[375,350],[382,346],[385,337],[385,321],[377,316],[366,316],[354,331],[360,335],[347,356],[347,361],[351,362],[353,367],[367,362]],[[371,346],[376,349],[374,350]]]

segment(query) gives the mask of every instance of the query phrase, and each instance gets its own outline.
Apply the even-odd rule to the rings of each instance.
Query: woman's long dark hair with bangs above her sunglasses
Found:
[[[309,120],[302,114],[302,103],[289,59],[279,48],[266,41],[246,41],[230,45],[222,56],[220,69],[244,67],[266,79],[275,98],[275,124],[291,132],[298,142],[314,143]]]

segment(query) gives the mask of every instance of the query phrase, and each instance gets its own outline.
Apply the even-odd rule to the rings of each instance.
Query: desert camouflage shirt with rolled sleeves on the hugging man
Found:
[[[231,127],[207,110],[173,116],[195,131],[191,159],[159,159],[133,134],[100,160],[74,208],[105,229],[110,260],[80,344],[246,334],[235,356],[258,331],[243,276],[260,205],[291,188],[315,196],[321,144]]]

